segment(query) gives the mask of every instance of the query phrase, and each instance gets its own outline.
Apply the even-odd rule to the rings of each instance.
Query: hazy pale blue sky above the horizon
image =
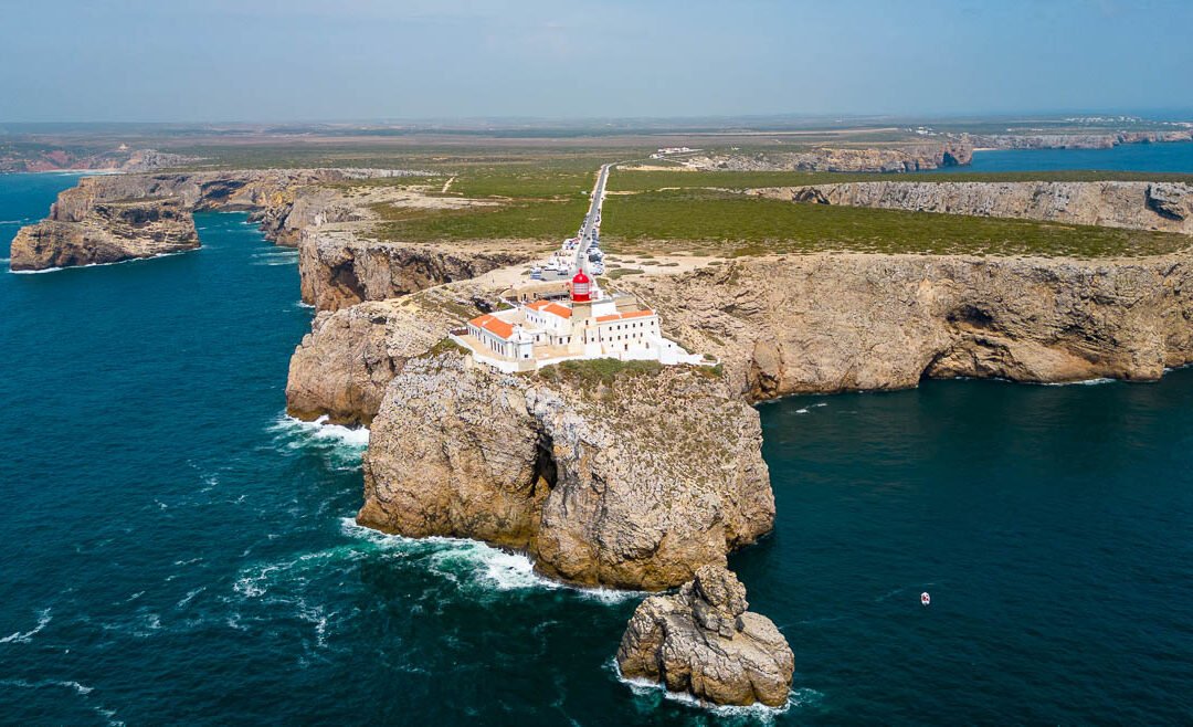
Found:
[[[1193,0],[0,0],[0,122],[1187,111],[1189,29]]]

